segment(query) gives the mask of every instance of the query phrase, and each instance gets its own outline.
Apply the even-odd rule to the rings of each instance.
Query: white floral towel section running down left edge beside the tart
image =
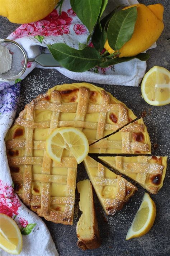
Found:
[[[5,87],[5,84],[4,84]],[[20,256],[57,256],[55,244],[49,230],[36,213],[30,211],[14,193],[13,181],[10,176],[6,158],[4,137],[10,128],[19,98],[20,84],[5,88],[1,93],[0,104],[4,105],[0,115],[0,213],[13,218],[23,235],[23,250]],[[0,255],[9,253],[0,249]]]

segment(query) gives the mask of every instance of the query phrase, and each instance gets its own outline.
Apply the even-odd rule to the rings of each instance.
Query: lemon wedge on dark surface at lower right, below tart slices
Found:
[[[134,216],[132,225],[126,235],[126,240],[145,235],[153,226],[156,216],[156,206],[148,193],[144,194],[142,203]]]

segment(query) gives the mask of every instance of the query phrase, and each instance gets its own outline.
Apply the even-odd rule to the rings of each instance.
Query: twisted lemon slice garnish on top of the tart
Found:
[[[79,164],[89,153],[88,139],[77,128],[57,128],[46,138],[47,154],[54,161],[60,162],[64,148],[70,149]]]

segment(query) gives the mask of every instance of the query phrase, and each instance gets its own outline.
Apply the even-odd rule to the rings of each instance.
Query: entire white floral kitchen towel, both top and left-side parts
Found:
[[[110,0],[111,1],[111,0]],[[114,3],[113,3],[114,2]],[[112,8],[116,4],[133,4],[136,1],[112,1]],[[29,58],[36,57],[46,51],[46,45],[56,42],[67,43],[78,48],[79,43],[85,43],[88,31],[81,24],[72,11],[70,1],[64,1],[61,16],[53,10],[42,21],[24,24],[17,28],[8,38],[17,41],[26,50]],[[92,46],[90,44],[90,46]],[[20,79],[24,79],[36,67],[29,62],[27,70]],[[57,68],[62,74],[76,80],[85,80],[101,84],[117,84],[137,86],[143,77],[146,62],[134,59],[107,69],[97,69],[84,73],[70,72],[62,67]],[[98,73],[96,73],[98,72]],[[5,213],[19,225],[23,234],[23,250],[20,256],[56,256],[55,244],[44,222],[35,213],[30,211],[14,193],[6,157],[4,138],[13,123],[16,105],[20,96],[20,79],[11,83],[0,82],[0,213]],[[8,253],[0,249],[0,255]]]

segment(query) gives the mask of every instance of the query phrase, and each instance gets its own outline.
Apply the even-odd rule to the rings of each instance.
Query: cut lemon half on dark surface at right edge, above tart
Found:
[[[154,66],[144,76],[141,85],[143,99],[150,105],[163,106],[170,103],[170,72]]]

